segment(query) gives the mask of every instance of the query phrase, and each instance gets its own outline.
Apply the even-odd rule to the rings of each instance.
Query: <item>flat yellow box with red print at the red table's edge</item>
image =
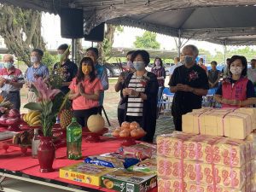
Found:
[[[60,177],[79,183],[100,186],[102,175],[113,172],[114,170],[105,166],[96,166],[81,162],[72,166],[62,167],[60,169]]]

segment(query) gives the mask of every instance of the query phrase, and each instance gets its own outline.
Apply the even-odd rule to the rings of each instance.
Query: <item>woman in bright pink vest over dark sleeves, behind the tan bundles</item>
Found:
[[[230,59],[231,77],[223,80],[214,96],[222,108],[240,108],[255,103],[253,83],[247,79],[247,59],[234,55]]]

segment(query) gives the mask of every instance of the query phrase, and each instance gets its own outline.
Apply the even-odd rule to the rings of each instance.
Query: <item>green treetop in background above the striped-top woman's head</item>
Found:
[[[156,41],[156,33],[154,32],[144,32],[143,36],[136,37],[133,44],[136,48],[160,49],[160,43]]]

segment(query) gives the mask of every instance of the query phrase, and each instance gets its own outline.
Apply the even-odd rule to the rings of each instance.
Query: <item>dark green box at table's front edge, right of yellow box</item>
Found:
[[[156,187],[156,174],[118,169],[102,176],[101,186],[122,192],[146,192]]]

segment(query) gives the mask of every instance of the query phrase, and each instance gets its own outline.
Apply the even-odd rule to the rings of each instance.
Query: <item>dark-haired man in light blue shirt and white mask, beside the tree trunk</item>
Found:
[[[32,83],[39,77],[46,79],[49,76],[49,69],[41,61],[44,52],[41,49],[32,49],[31,63],[32,66],[26,70],[26,87],[29,89],[27,94],[27,102],[37,102],[37,95],[32,90]]]

